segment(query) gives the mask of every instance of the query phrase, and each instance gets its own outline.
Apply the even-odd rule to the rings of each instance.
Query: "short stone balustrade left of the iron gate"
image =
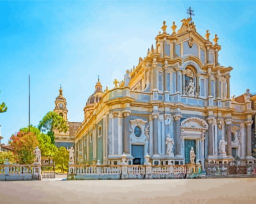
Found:
[[[0,180],[41,180],[41,165],[0,164]]]

